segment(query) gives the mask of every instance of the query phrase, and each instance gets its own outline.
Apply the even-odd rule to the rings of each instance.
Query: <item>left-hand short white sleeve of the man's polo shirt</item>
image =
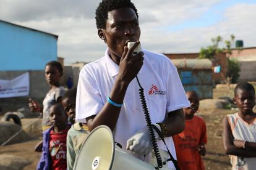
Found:
[[[103,101],[97,89],[92,70],[83,67],[77,84],[77,99],[75,103],[75,120],[86,123],[85,118],[96,115],[103,108]]]

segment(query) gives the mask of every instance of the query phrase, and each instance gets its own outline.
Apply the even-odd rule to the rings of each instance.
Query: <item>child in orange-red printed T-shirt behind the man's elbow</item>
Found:
[[[184,108],[185,129],[173,137],[177,153],[177,162],[181,170],[205,169],[201,156],[205,156],[207,144],[207,129],[205,121],[194,114],[199,107],[197,92],[186,92],[190,107]]]

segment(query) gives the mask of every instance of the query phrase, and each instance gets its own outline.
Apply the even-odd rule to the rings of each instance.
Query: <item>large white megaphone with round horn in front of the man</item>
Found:
[[[156,169],[122,150],[114,143],[108,126],[98,126],[90,132],[75,158],[75,170],[144,170]],[[168,169],[163,167],[161,169]]]

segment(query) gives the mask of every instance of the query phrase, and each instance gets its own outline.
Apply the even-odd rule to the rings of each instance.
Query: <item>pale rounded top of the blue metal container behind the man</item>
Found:
[[[204,70],[211,69],[209,59],[173,59],[171,60],[177,69]]]

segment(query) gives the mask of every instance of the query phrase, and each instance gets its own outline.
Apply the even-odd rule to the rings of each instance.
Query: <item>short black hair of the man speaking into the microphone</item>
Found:
[[[100,2],[98,8],[96,9],[96,26],[98,29],[106,28],[106,21],[108,20],[108,12],[114,9],[119,9],[123,7],[129,7],[134,10],[137,18],[139,18],[138,12],[134,3],[130,0],[103,0]]]

